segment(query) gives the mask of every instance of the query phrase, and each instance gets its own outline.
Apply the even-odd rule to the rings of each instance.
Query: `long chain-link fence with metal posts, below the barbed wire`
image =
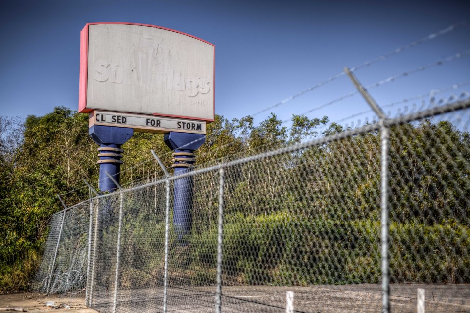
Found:
[[[470,101],[452,100],[91,197],[52,217],[33,289],[100,312],[313,313],[415,312],[424,288],[430,312],[470,311]]]

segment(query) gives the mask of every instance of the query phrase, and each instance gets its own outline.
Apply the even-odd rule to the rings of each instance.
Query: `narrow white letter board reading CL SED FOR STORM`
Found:
[[[93,111],[90,113],[88,126],[92,127],[93,125],[128,127],[144,133],[206,134],[205,121],[120,112]]]

